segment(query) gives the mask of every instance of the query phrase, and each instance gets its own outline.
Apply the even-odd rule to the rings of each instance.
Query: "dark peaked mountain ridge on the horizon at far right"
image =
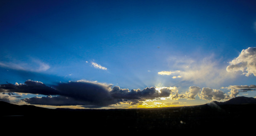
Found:
[[[211,102],[212,103],[212,102]],[[217,105],[244,105],[244,104],[256,104],[256,98],[253,97],[245,97],[245,96],[239,96],[232,98],[226,102],[217,102],[214,101]]]

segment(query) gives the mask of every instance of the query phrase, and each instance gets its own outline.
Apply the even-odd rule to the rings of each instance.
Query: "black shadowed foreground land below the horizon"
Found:
[[[208,132],[254,130],[255,116],[256,104],[250,102],[245,104],[212,102],[188,107],[127,110],[47,109],[0,102],[1,128],[14,131],[54,130],[62,133],[83,131],[128,134],[184,133],[190,130]]]

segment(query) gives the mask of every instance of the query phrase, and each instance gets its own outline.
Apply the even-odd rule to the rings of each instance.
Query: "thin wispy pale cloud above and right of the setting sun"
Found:
[[[178,71],[161,71],[158,74],[171,75],[175,74],[172,79],[179,79],[180,81],[191,82],[194,85],[219,85],[227,79],[233,79],[235,75],[226,71],[226,66],[221,65],[212,56],[203,59],[169,59],[172,68]]]

